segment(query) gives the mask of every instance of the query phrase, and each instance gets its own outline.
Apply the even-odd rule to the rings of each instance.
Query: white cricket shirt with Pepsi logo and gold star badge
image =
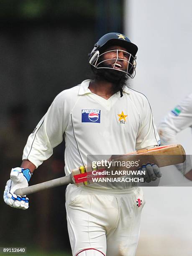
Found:
[[[147,98],[128,87],[110,99],[89,90],[91,80],[64,90],[28,137],[23,159],[36,167],[65,138],[65,173],[87,164],[87,155],[115,155],[159,145]]]

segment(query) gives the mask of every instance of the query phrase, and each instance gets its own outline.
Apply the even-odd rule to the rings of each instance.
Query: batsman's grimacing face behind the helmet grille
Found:
[[[130,54],[124,47],[110,46],[105,49],[105,53],[102,54],[101,65],[127,72],[129,60]]]

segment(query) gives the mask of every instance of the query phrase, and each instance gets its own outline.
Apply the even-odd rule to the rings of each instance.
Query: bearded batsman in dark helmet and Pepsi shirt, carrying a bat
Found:
[[[27,209],[28,198],[17,188],[28,186],[31,173],[65,138],[65,173],[87,164],[87,155],[127,154],[159,145],[147,98],[126,86],[133,78],[138,47],[120,33],[108,33],[89,56],[94,80],[61,92],[28,138],[21,168],[11,171],[4,200]],[[146,181],[161,177],[147,164]],[[138,187],[77,187],[66,192],[67,223],[73,256],[134,256],[145,203]]]

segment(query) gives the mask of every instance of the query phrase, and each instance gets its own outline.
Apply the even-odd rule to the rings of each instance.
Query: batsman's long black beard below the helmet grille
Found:
[[[92,72],[95,74],[95,80],[106,80],[113,84],[113,92],[120,91],[120,97],[123,96],[123,87],[126,86],[128,74],[115,69],[96,69],[92,67]]]

